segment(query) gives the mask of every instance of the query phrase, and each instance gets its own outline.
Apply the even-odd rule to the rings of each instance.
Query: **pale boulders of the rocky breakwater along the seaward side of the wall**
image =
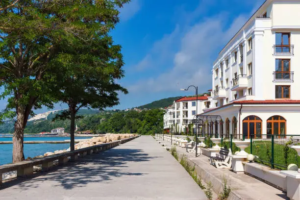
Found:
[[[122,134],[121,133],[120,134],[106,133],[103,136],[93,137],[91,139],[86,139],[84,141],[81,141],[81,142],[75,144],[75,150],[92,147],[92,146],[100,145],[103,143],[109,143],[109,142],[113,142],[116,140],[122,140],[122,139],[130,138],[130,137],[134,137],[136,135],[137,134],[129,134],[129,133],[122,133]],[[57,154],[57,153],[64,153],[67,151],[70,151],[70,148],[66,149],[66,150],[55,150],[54,152],[46,152],[46,153],[44,153],[44,155],[38,155],[38,156],[35,156],[34,158],[41,158],[44,156],[53,155],[53,154]],[[27,157],[26,160],[31,160],[31,159],[33,159],[33,158]],[[54,164],[58,164],[57,161],[54,162]],[[38,172],[41,170],[42,170],[42,166],[34,166],[33,167],[34,172]],[[5,173],[5,174],[3,174],[2,178],[3,178],[3,180],[10,179],[10,178],[16,177],[16,175],[17,175],[16,172]]]

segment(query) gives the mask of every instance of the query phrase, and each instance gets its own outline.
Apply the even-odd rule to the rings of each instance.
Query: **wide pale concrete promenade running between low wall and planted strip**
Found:
[[[32,179],[12,181],[0,200],[206,200],[199,186],[151,136]]]

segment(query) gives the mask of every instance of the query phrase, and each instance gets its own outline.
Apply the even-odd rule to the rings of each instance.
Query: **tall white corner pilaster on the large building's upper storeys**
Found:
[[[264,74],[261,73],[261,69],[263,69],[263,35],[264,31],[255,31],[254,32],[254,40],[253,45],[254,45],[254,59],[252,62],[252,70],[253,70],[253,75],[252,75],[252,91],[254,91],[255,95],[255,100],[263,100],[263,87],[255,87],[256,85],[263,85],[263,80],[264,80]],[[253,53],[253,51],[252,51]]]

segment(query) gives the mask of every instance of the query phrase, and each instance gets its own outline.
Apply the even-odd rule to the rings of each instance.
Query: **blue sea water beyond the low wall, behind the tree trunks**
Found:
[[[26,135],[24,141],[64,141],[70,140],[70,137],[36,137],[34,135]],[[75,137],[75,139],[89,139],[91,137]],[[0,134],[0,141],[12,141],[11,134]],[[34,157],[37,155],[44,155],[46,152],[53,152],[54,150],[65,150],[70,147],[70,143],[66,144],[24,144],[24,155],[27,157]],[[0,165],[9,164],[12,162],[12,144],[0,144]]]

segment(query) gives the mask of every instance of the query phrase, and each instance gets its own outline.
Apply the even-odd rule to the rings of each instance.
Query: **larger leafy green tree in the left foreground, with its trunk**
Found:
[[[33,115],[32,110],[42,105],[52,107],[55,100],[53,85],[57,80],[52,75],[65,71],[51,69],[58,67],[55,66],[60,63],[57,60],[64,55],[62,47],[73,48],[78,41],[87,43],[105,35],[119,21],[117,7],[128,1],[0,2],[0,86],[4,87],[1,98],[8,97],[1,119],[16,116],[13,162],[24,159],[24,128],[29,115]],[[74,110],[74,103],[71,107]]]

